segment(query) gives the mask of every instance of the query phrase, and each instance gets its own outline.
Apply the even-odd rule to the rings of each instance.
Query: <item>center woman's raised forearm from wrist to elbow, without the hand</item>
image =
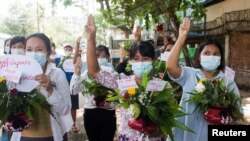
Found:
[[[91,77],[95,78],[100,71],[96,58],[95,37],[87,40],[87,66],[88,73],[91,75]]]

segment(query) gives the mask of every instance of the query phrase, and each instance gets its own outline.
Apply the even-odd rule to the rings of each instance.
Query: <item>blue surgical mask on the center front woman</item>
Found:
[[[148,73],[153,69],[152,62],[132,63],[132,70],[137,77],[142,77],[143,73]]]

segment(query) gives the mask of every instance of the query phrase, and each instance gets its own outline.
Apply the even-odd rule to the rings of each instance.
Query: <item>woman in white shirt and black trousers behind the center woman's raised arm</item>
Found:
[[[96,56],[102,69],[112,71],[113,66],[108,62],[110,54],[106,46],[97,47]],[[81,64],[78,58],[77,64]],[[82,81],[90,81],[88,71],[81,75],[81,65],[75,65],[75,73],[70,82],[71,92],[78,94],[84,90]],[[84,94],[84,127],[89,141],[113,141],[116,131],[116,115],[114,103],[104,102],[104,96]]]

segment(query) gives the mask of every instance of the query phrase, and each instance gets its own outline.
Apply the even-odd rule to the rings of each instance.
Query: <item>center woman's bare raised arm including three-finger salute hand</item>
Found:
[[[96,58],[96,26],[92,15],[88,17],[87,25],[85,25],[87,35],[87,66],[88,73],[91,77],[96,78],[100,72],[100,67]]]

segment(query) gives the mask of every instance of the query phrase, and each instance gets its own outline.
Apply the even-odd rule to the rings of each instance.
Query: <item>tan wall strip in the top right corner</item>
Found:
[[[246,9],[250,9],[250,0],[224,0],[206,8],[206,20],[209,22],[222,16],[224,13]]]

